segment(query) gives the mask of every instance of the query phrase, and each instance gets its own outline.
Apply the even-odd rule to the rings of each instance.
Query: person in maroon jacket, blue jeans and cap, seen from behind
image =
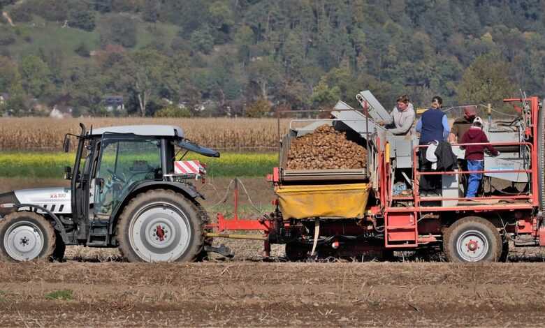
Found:
[[[475,144],[460,146],[460,148],[465,149],[465,159],[467,161],[468,171],[484,170],[484,149],[488,149],[493,156],[498,156],[500,154],[500,152],[492,147],[491,144],[477,144],[488,142],[488,138],[483,131],[483,120],[480,117],[475,117],[473,126],[467,130],[465,135],[463,135],[462,140],[460,140],[460,144]],[[482,173],[470,173],[465,197],[477,197],[477,191],[479,190],[482,179]]]

